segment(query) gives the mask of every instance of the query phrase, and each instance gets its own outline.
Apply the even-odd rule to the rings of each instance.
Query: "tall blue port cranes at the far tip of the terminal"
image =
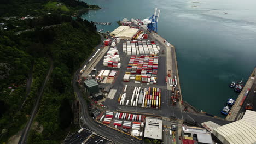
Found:
[[[150,16],[148,19],[144,19],[143,22],[147,25],[147,30],[151,33],[154,31],[155,33],[158,32],[158,18],[160,14],[160,10],[155,8],[155,13]]]

